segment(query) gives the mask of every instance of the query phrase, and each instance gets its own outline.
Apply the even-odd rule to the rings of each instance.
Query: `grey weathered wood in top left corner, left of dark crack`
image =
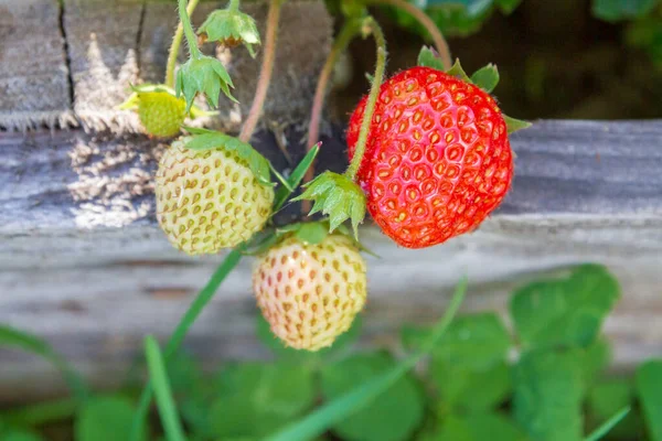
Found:
[[[0,0],[0,128],[71,119],[57,0]]]

